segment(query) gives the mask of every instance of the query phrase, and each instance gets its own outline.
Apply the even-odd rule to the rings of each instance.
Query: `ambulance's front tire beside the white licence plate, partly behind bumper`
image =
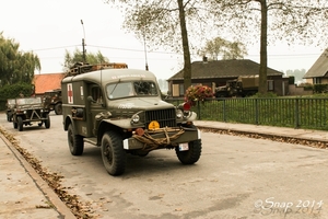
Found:
[[[190,141],[188,143],[189,150],[179,151],[179,148],[175,148],[176,155],[183,164],[196,163],[201,154],[201,139]]]

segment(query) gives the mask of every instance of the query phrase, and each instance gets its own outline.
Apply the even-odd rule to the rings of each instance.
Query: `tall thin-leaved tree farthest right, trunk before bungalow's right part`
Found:
[[[254,43],[260,36],[259,93],[267,93],[267,46],[276,39],[314,43],[326,35],[327,0],[209,0],[220,23]],[[231,28],[232,27],[232,28]],[[325,38],[324,38],[325,39]]]

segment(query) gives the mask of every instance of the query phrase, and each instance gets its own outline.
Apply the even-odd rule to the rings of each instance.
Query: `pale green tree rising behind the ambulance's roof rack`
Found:
[[[86,62],[90,65],[96,65],[96,64],[106,64],[109,62],[109,59],[107,57],[104,57],[101,51],[97,51],[96,54],[86,53]],[[70,54],[70,51],[65,51],[65,61],[63,61],[63,71],[69,70],[71,67],[74,66],[77,62],[83,62],[83,53],[80,51],[78,48]]]

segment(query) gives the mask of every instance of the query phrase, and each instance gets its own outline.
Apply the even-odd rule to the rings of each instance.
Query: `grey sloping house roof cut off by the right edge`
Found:
[[[326,49],[304,74],[304,79],[325,77],[328,72],[328,49]]]

